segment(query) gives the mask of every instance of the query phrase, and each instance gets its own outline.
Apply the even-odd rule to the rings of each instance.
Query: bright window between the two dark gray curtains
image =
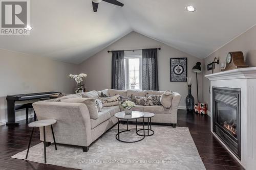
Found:
[[[125,89],[141,89],[141,55],[125,56]]]

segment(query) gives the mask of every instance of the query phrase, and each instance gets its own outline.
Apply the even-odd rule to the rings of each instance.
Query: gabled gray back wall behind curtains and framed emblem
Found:
[[[196,98],[196,74],[191,69],[196,62],[203,62],[202,59],[188,55],[171,46],[165,45],[159,41],[148,38],[136,32],[119,39],[115,43],[106,47],[96,55],[90,57],[79,65],[80,72],[86,73],[87,90],[102,90],[111,88],[111,53],[108,50],[130,50],[141,48],[161,47],[158,51],[158,76],[160,90],[173,90],[182,95],[180,106],[185,106],[187,95],[187,82],[170,82],[170,58],[187,57],[188,77],[192,77],[192,93]],[[199,74],[199,89],[202,89],[202,75]],[[199,91],[199,100],[202,100],[202,92]]]

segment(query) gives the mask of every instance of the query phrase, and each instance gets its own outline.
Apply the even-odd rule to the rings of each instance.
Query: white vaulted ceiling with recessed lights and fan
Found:
[[[30,1],[29,36],[0,36],[0,48],[80,63],[131,31],[204,58],[256,23],[254,0]],[[185,10],[187,5],[196,12]]]

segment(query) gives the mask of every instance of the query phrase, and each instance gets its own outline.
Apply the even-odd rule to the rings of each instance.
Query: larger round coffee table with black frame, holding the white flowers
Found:
[[[134,140],[134,141],[125,141],[125,140],[121,140],[120,139],[120,133],[123,133],[123,132],[127,132],[127,131],[130,131],[128,129],[128,120],[132,120],[132,119],[136,119],[136,134],[137,134],[137,130],[138,130],[138,118],[143,118],[143,129],[144,128],[144,113],[143,112],[139,112],[139,111],[133,111],[132,114],[130,115],[126,115],[124,112],[118,112],[115,114],[115,117],[117,118],[117,130],[118,130],[118,133],[116,134],[116,139],[118,141],[121,141],[121,142],[126,142],[126,143],[133,143],[133,142],[138,142],[138,141],[141,141],[145,138],[145,130],[144,130],[144,136],[143,135],[140,135],[140,136],[143,136],[141,139],[139,140]],[[127,129],[124,130],[124,131],[119,131],[119,123],[120,123],[120,120],[119,119],[126,119],[127,120]],[[141,129],[142,130],[142,129]]]

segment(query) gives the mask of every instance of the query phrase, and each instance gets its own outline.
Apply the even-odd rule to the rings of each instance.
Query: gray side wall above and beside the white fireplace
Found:
[[[212,53],[204,59],[204,75],[211,74],[211,70],[207,71],[207,64],[212,62],[215,57],[220,59],[220,62],[226,62],[228,52],[242,51],[244,53],[245,62],[250,67],[256,66],[256,26],[233,39],[216,52]],[[220,71],[220,64],[216,65],[214,72]],[[208,104],[210,110],[210,94],[209,80],[203,78],[203,101]]]

